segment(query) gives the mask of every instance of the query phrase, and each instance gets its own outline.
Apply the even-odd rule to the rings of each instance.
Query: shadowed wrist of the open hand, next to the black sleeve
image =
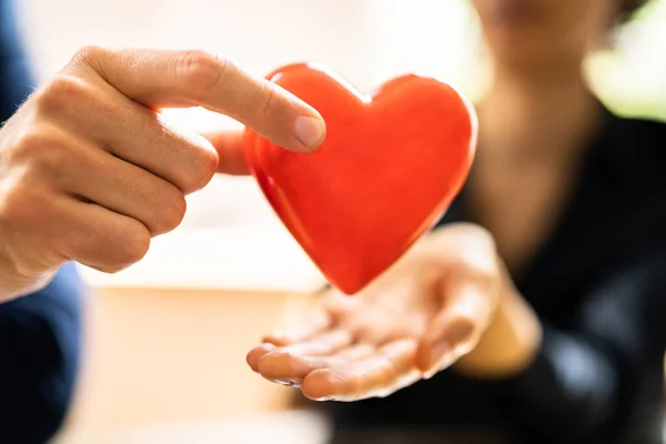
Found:
[[[460,373],[481,379],[509,377],[534,362],[541,349],[541,322],[513,285],[508,286],[477,345],[454,365]]]

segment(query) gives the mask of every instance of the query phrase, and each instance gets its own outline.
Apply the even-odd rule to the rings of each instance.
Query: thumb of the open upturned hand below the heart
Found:
[[[416,352],[425,379],[471,352],[494,312],[487,285],[465,280],[443,283],[444,305],[432,319]]]

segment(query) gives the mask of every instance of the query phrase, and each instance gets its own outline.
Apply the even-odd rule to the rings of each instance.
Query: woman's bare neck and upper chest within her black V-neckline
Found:
[[[478,105],[468,211],[493,233],[514,272],[555,229],[575,186],[582,150],[597,131],[598,103],[578,65],[568,67],[497,65],[493,88]]]

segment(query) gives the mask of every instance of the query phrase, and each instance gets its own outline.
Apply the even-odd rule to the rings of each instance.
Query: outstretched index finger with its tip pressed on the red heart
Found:
[[[128,98],[150,108],[203,107],[293,151],[325,137],[321,114],[289,91],[202,51],[89,48],[73,64],[94,70]]]

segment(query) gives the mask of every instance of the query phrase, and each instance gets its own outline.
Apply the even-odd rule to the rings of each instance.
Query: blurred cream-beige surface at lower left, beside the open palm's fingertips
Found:
[[[245,355],[281,320],[302,315],[312,300],[310,293],[94,290],[85,306],[82,369],[65,442],[164,426],[223,430],[215,424],[290,410],[293,390],[254,374]]]

